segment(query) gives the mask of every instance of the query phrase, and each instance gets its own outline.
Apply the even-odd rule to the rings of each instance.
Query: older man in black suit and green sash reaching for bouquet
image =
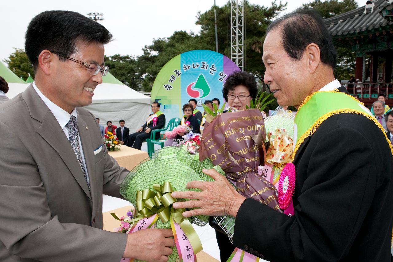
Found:
[[[298,107],[292,216],[241,196],[215,170],[204,170],[214,182],[188,183],[201,192],[173,192],[193,199],[173,206],[195,208],[187,217],[236,217],[233,245],[268,261],[390,261],[393,149],[368,109],[334,79],[336,59],[323,19],[310,9],[266,30],[264,82],[279,105]]]

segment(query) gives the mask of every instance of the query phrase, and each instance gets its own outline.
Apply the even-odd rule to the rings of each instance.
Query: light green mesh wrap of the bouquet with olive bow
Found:
[[[225,173],[219,166],[213,167],[210,160],[205,159],[199,162],[198,156],[188,154],[182,147],[165,147],[158,149],[152,159],[145,159],[135,168],[133,168],[120,186],[120,194],[136,206],[136,192],[138,190],[151,189],[154,184],[163,184],[171,182],[174,191],[200,191],[198,189],[187,189],[188,182],[213,181],[211,177],[202,173],[202,169],[215,168],[222,175]],[[177,199],[185,201],[185,199]],[[209,221],[208,216],[194,216],[189,218],[191,223],[198,226],[204,226]],[[157,220],[155,228],[169,229],[171,225],[168,222],[163,223]],[[138,261],[138,260],[135,260]],[[179,261],[176,247],[173,247],[172,255],[168,261]]]

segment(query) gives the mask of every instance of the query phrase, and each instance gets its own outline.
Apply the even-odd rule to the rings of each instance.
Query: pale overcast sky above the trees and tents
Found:
[[[223,6],[227,0],[216,0]],[[270,0],[249,0],[253,4],[271,5]],[[277,0],[279,2],[279,0]],[[285,2],[285,1],[283,1]],[[288,0],[284,13],[295,10],[311,0]],[[359,6],[365,1],[357,0]],[[24,49],[24,34],[35,15],[46,10],[71,10],[83,15],[89,12],[104,14],[100,21],[114,36],[114,41],[105,47],[106,55],[141,55],[142,48],[151,44],[154,38],[169,37],[174,31],[184,30],[198,33],[196,14],[213,6],[214,0],[4,0],[1,4],[2,37],[0,40],[0,60],[9,57],[13,47]]]

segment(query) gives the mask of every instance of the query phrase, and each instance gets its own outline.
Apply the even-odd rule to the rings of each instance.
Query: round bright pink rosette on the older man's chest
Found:
[[[292,163],[286,164],[278,182],[278,205],[282,210],[289,207],[295,191],[296,172]]]

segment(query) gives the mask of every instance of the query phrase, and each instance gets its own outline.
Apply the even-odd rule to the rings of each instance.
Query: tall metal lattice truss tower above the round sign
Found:
[[[244,64],[244,5],[243,0],[230,0],[231,6],[231,59],[240,70]]]

